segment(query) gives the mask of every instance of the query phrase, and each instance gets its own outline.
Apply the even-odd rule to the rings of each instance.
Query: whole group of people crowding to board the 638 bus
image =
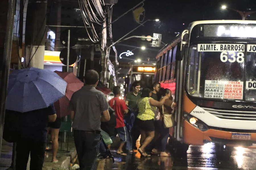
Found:
[[[140,83],[134,82],[125,100],[120,98],[120,86],[113,88],[113,94],[114,98],[109,101],[109,105],[115,111],[113,119],[116,119],[116,124],[111,127],[111,124],[106,126],[102,123],[101,129],[106,131],[112,140],[118,134],[120,145],[117,154],[126,156],[127,152],[138,151],[143,157],[151,154],[170,156],[170,153],[166,152],[166,145],[170,137],[169,128],[174,125],[172,108],[176,107],[171,91],[161,88],[158,82],[141,90]],[[172,121],[171,126],[164,122],[167,118],[164,115],[168,115]],[[137,148],[139,136],[140,147]],[[110,145],[108,148],[110,149]]]

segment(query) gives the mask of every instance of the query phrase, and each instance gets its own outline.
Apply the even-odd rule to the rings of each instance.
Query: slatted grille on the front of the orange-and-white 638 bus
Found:
[[[256,120],[255,111],[231,111],[231,110],[224,110],[224,109],[220,110],[220,109],[204,108],[204,107],[202,107],[202,109],[222,119]]]

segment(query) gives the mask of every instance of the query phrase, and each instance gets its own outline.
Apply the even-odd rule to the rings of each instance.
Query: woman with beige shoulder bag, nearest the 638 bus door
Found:
[[[170,154],[166,153],[165,150],[166,150],[166,145],[168,143],[168,137],[170,136],[169,128],[175,126],[175,121],[172,114],[172,107],[176,107],[177,104],[172,101],[173,97],[172,97],[171,90],[167,88],[164,89],[160,101],[162,101],[166,96],[168,97],[168,99],[164,101],[164,105],[160,110],[160,113],[161,113],[160,120],[162,120],[161,129],[160,129],[160,140],[161,140],[161,145],[159,147],[160,156],[170,156]],[[153,150],[156,150],[156,149],[153,149]]]

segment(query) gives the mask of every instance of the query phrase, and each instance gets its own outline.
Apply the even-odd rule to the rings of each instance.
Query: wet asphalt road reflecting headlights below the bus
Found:
[[[94,170],[256,170],[256,151],[246,148],[226,148],[220,150],[212,143],[204,146],[190,146],[187,156],[172,155],[172,157],[151,156],[141,158],[139,152],[127,156],[116,155],[112,150],[115,163],[105,159],[96,163]]]

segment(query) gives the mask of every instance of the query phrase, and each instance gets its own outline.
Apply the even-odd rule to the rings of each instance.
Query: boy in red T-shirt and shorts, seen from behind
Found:
[[[127,142],[128,140],[128,130],[125,127],[123,116],[124,114],[128,113],[128,108],[125,104],[125,101],[120,99],[119,97],[121,96],[121,88],[120,86],[115,86],[113,88],[113,94],[114,98],[109,101],[110,107],[112,107],[115,110],[115,115],[116,115],[116,130],[117,133],[121,139],[121,144],[117,150],[117,154],[126,156],[122,150],[123,145]]]

